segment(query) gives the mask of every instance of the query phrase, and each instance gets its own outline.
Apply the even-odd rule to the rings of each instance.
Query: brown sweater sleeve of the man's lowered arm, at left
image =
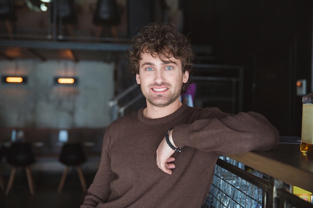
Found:
[[[80,208],[95,208],[100,202],[106,202],[109,198],[110,183],[114,180],[115,175],[110,169],[108,132],[109,130],[106,129],[98,170]]]

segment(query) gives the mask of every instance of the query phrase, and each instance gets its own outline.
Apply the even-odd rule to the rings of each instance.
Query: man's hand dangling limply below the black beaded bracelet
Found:
[[[174,146],[174,143],[173,143],[173,140],[171,137],[171,132],[172,131],[170,131],[168,134],[169,141]],[[161,143],[158,145],[157,150],[156,150],[156,165],[164,173],[167,173],[169,175],[172,173],[171,169],[175,168],[175,164],[171,163],[175,160],[174,157],[171,157],[174,152],[175,151],[172,150],[168,146],[168,144],[165,141],[165,137],[164,137],[163,140],[161,141]]]

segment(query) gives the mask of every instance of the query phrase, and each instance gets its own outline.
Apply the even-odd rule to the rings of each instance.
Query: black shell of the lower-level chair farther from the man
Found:
[[[35,162],[32,147],[29,143],[14,142],[8,149],[6,162],[13,166],[28,166]]]

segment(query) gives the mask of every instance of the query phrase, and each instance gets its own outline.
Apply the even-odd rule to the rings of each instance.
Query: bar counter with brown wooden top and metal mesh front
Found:
[[[248,171],[247,171],[248,170]],[[313,208],[292,194],[293,186],[313,192],[313,155],[299,144],[282,144],[266,152],[222,156],[202,208]]]

